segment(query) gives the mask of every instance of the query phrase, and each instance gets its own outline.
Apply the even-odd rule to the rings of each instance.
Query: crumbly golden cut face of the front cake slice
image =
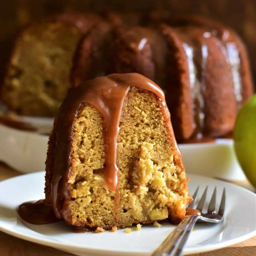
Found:
[[[189,199],[187,178],[173,154],[156,95],[132,87],[124,100],[119,129],[119,190],[112,191],[103,177],[104,120],[94,106],[80,105],[73,123],[66,221],[111,229],[184,218]]]

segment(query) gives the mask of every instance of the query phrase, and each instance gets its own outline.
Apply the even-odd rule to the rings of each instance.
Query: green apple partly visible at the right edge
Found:
[[[256,94],[239,111],[233,138],[238,161],[246,177],[256,188]]]

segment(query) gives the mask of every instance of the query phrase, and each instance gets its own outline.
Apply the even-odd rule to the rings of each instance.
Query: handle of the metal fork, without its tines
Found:
[[[154,251],[152,256],[179,256],[188,236],[200,217],[198,215],[185,216],[183,221],[169,234],[164,242]]]

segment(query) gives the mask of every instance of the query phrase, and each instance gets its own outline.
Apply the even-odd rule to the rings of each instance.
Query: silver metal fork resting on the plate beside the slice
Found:
[[[218,214],[216,213],[216,194],[217,189],[215,187],[214,193],[211,196],[208,210],[204,214],[203,209],[205,207],[207,188],[205,188],[204,193],[199,200],[199,203],[196,207],[197,210],[201,212],[201,215],[187,215],[183,219],[183,221],[169,234],[169,236],[164,240],[164,242],[154,251],[152,256],[179,256],[182,253],[182,249],[188,239],[188,236],[193,230],[195,223],[197,221],[203,222],[211,222],[211,223],[220,223],[223,220],[224,210],[225,210],[225,202],[226,202],[226,191],[223,188],[223,193],[221,197],[220,207]],[[188,205],[189,208],[193,208],[196,204],[197,194],[198,194],[199,186],[197,187],[194,195],[193,202]]]

